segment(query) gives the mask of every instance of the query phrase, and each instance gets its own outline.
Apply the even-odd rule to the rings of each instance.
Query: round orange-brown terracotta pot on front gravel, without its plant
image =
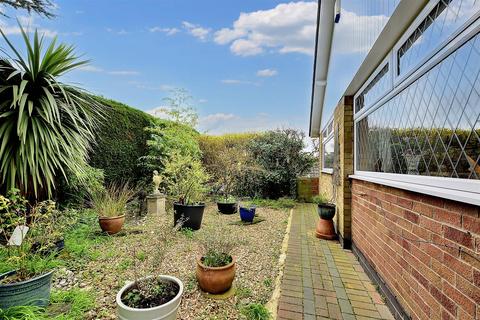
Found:
[[[197,258],[197,281],[203,291],[212,294],[223,293],[232,287],[235,278],[235,257],[223,267],[207,267],[202,257]]]

